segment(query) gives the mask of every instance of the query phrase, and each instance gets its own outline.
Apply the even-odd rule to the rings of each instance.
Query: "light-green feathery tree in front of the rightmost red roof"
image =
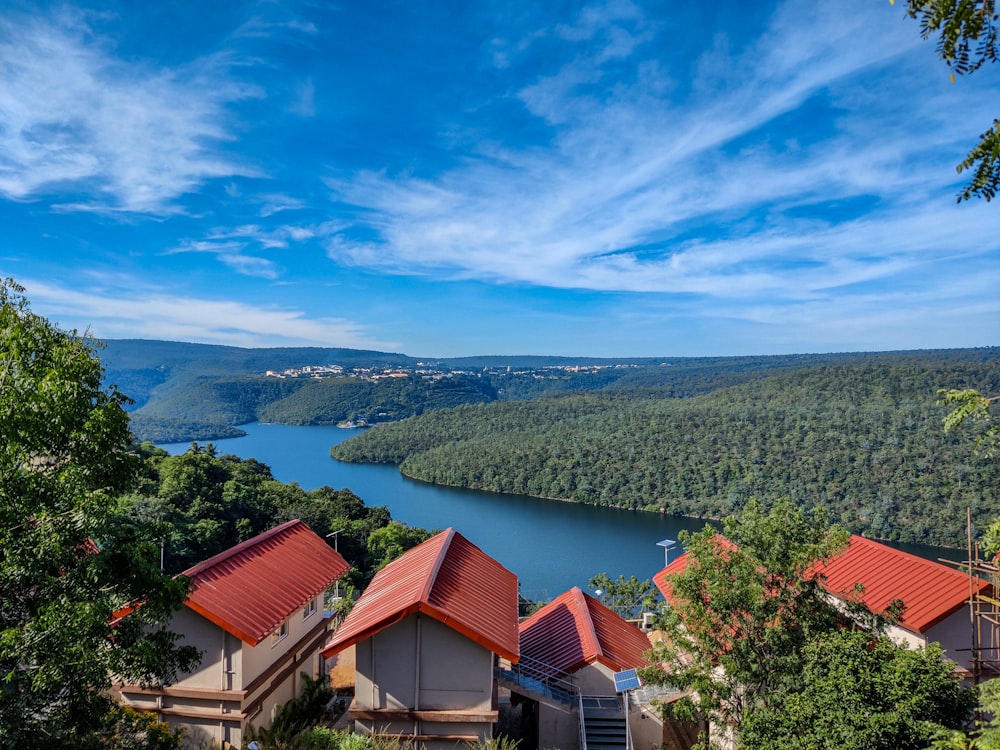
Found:
[[[645,679],[686,691],[669,714],[738,736],[748,715],[799,685],[806,644],[836,626],[808,571],[847,534],[787,500],[768,511],[751,500],[723,528],[724,536],[711,526],[682,533],[687,565],[667,577],[666,637],[651,654],[660,666]]]

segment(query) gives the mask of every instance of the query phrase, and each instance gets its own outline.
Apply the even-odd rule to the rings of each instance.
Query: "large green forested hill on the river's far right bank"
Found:
[[[1000,393],[996,351],[873,357],[692,398],[665,388],[436,411],[335,446],[347,461],[496,492],[720,518],[747,498],[826,505],[871,537],[961,545],[1000,515],[996,460],[945,434],[939,388]]]

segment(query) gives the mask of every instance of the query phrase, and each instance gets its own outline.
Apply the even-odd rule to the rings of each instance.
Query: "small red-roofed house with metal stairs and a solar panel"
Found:
[[[574,587],[524,620],[519,632],[521,665],[507,684],[522,711],[523,747],[575,750],[582,738],[587,747],[625,747],[626,734],[634,748],[663,743],[659,716],[615,683],[616,673],[647,666],[650,642],[639,628]],[[546,695],[532,675],[548,686],[565,684],[568,696]]]

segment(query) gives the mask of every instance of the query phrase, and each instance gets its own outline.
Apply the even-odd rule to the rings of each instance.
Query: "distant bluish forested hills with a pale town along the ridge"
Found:
[[[253,421],[373,424],[461,404],[603,390],[690,397],[819,366],[1000,357],[1000,349],[992,348],[756,357],[434,359],[357,349],[243,349],[149,340],[107,341],[99,353],[106,384],[117,385],[135,402],[133,433],[159,443],[233,437],[243,434],[239,425]]]

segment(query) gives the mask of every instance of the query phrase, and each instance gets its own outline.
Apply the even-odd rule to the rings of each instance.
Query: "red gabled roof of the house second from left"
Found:
[[[417,612],[516,662],[517,576],[454,529],[386,565],[323,649],[330,657]]]

